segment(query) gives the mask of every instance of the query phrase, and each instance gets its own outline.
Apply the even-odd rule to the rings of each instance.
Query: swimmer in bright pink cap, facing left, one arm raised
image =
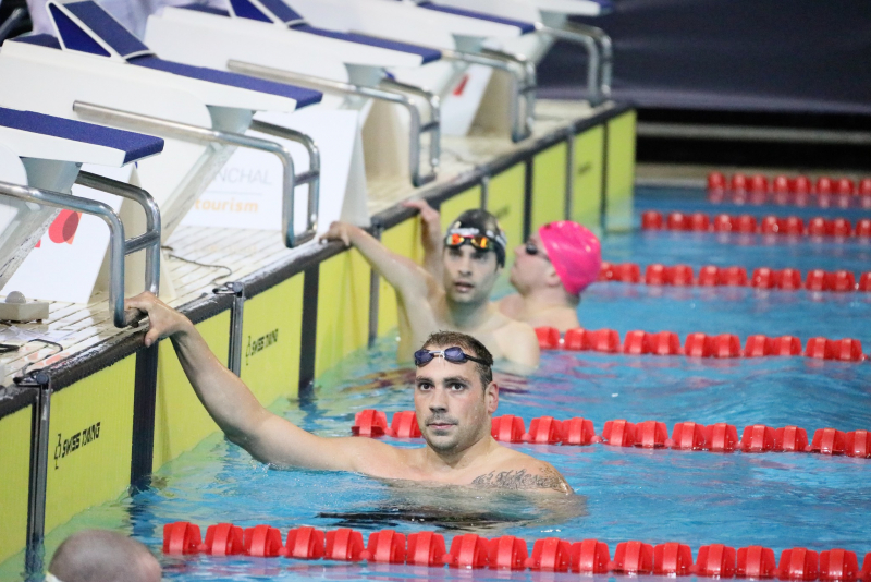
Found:
[[[426,201],[405,206],[420,211],[424,266],[437,279],[441,272],[441,219]],[[580,293],[599,277],[602,253],[599,239],[587,228],[561,220],[544,225],[514,250],[511,284],[517,290],[495,303],[500,313],[532,327],[555,327],[561,332],[580,327]]]

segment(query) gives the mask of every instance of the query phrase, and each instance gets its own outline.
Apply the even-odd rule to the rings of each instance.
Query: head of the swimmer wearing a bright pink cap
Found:
[[[599,277],[602,252],[589,229],[571,220],[544,225],[515,248],[511,283],[524,295],[551,295],[576,307]]]

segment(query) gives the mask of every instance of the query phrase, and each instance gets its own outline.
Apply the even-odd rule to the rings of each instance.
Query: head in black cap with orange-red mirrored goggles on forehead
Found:
[[[507,241],[496,217],[473,209],[451,222],[444,237],[443,284],[454,304],[480,304],[505,266]]]

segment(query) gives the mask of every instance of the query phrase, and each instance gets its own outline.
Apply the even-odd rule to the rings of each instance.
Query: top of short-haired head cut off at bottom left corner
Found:
[[[48,571],[63,582],[160,580],[160,566],[147,547],[108,530],[84,530],[64,539]]]

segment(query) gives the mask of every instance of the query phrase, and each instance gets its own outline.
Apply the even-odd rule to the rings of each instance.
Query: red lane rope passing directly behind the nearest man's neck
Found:
[[[421,438],[417,416],[413,410],[396,412],[388,423],[387,414],[366,409],[354,416],[351,427],[354,436],[378,438]],[[694,422],[676,423],[668,437],[663,422],[645,421],[630,423],[619,419],[606,421],[602,434],[597,435],[593,422],[574,417],[564,421],[553,416],[539,416],[529,422],[529,431],[523,419],[504,414],[492,419],[492,437],[502,442],[527,442],[530,445],[610,445],[612,447],[638,447],[645,449],[674,449],[710,452],[815,452],[827,456],[846,454],[858,459],[871,458],[871,433],[868,431],[844,432],[836,428],[818,428],[808,440],[808,432],[798,426],[773,428],[763,424],[745,426],[741,437],[738,429],[728,423],[702,425]]]

